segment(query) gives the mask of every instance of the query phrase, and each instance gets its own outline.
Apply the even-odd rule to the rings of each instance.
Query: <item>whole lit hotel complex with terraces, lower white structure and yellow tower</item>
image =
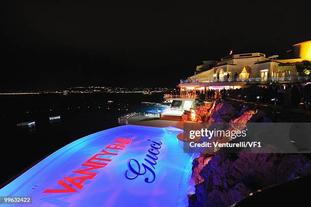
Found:
[[[172,106],[180,108],[180,115],[183,110],[189,110],[195,104],[198,94],[206,95],[208,90],[264,86],[273,81],[284,85],[295,81],[310,81],[311,78],[298,72],[296,66],[303,61],[311,61],[311,40],[293,45],[290,51],[293,58],[288,59],[278,59],[278,55],[267,57],[264,53],[254,52],[231,54],[222,57],[219,62],[204,61],[197,66],[195,75],[180,80],[177,85],[180,95],[166,94],[164,98],[172,101]]]

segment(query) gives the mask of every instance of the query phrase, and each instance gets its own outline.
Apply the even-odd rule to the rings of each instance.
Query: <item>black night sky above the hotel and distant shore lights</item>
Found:
[[[176,86],[230,49],[283,54],[311,38],[310,7],[299,1],[8,2],[0,7],[0,92]]]

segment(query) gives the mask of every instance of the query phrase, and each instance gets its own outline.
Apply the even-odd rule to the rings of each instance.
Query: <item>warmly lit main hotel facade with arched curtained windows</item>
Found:
[[[205,93],[208,89],[239,88],[250,82],[264,83],[271,77],[274,80],[285,79],[286,74],[278,74],[278,65],[278,62],[259,52],[232,54],[221,58],[210,70],[181,80],[178,85],[180,96],[196,96],[198,91]]]

